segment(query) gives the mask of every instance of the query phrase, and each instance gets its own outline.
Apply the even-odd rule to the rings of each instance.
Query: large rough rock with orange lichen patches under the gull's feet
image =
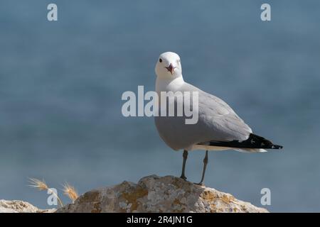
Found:
[[[231,194],[186,182],[181,178],[151,175],[137,184],[122,182],[93,189],[56,212],[255,212],[267,209],[235,199]]]

